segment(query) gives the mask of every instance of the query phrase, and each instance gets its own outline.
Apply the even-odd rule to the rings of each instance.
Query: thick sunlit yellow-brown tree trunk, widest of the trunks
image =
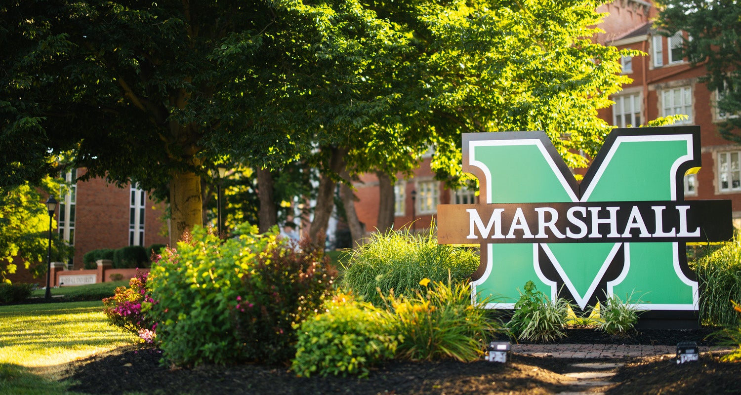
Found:
[[[175,246],[186,230],[203,225],[201,177],[195,173],[170,171],[170,246]]]

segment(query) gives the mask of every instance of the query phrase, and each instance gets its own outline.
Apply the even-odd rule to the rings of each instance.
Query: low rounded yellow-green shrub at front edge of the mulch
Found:
[[[305,377],[368,376],[369,367],[393,358],[398,344],[378,308],[340,294],[300,325],[291,369]]]

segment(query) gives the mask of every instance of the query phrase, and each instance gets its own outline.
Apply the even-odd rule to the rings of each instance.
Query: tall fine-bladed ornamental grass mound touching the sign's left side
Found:
[[[432,229],[428,234],[407,229],[373,233],[349,254],[342,282],[373,305],[382,305],[382,295],[392,290],[396,296],[424,291],[419,279],[457,283],[479,267],[479,256],[471,250],[438,245]]]

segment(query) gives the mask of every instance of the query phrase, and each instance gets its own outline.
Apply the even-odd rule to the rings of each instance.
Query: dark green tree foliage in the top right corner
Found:
[[[741,142],[741,4],[727,0],[661,0],[657,27],[666,36],[686,32],[684,55],[708,70],[702,82],[716,91],[717,110],[725,118],[720,131]]]

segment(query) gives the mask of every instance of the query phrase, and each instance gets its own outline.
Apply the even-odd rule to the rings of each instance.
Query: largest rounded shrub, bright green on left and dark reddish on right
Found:
[[[239,225],[238,237],[222,241],[196,227],[153,265],[150,288],[159,304],[152,313],[170,362],[274,362],[293,356],[291,324],[319,308],[332,280],[321,251],[296,252],[276,233],[256,232],[255,226]]]

